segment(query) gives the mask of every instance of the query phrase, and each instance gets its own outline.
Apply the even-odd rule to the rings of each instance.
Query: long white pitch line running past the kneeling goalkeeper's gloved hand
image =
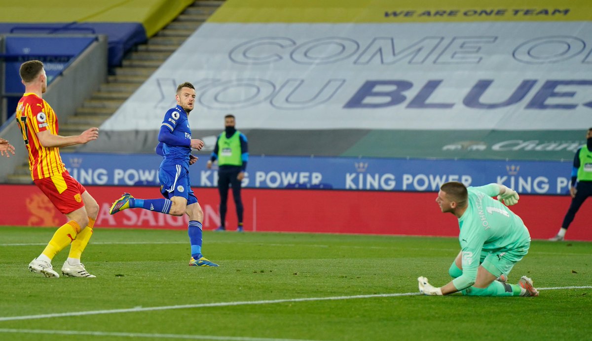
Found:
[[[549,287],[549,288],[537,288],[537,289],[538,290],[592,289],[592,286]],[[275,304],[275,303],[305,302],[305,301],[334,301],[334,300],[352,300],[352,299],[371,299],[374,297],[401,297],[401,296],[418,296],[418,295],[420,295],[420,293],[414,292],[414,293],[372,294],[372,295],[354,295],[354,296],[303,297],[300,299],[281,299],[281,300],[181,304],[181,305],[176,305],[176,306],[160,306],[160,307],[146,307],[146,308],[134,307],[134,308],[126,308],[126,309],[89,310],[86,312],[70,312],[70,313],[39,314],[39,315],[24,315],[24,316],[5,316],[5,317],[0,317],[0,322],[15,321],[15,320],[49,319],[52,317],[153,312],[155,310],[191,309],[191,308],[203,308],[203,307],[246,306],[246,305],[254,305],[254,304]]]

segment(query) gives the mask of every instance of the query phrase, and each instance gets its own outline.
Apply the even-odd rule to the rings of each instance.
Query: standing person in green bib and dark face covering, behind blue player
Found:
[[[220,192],[220,227],[215,231],[226,231],[226,209],[228,201],[228,188],[232,188],[236,217],[239,225],[236,231],[243,231],[243,202],[240,199],[240,183],[244,178],[244,171],[249,160],[247,137],[234,128],[234,115],[224,116],[226,129],[218,135],[214,152],[207,163],[208,169],[218,159],[218,191]]]

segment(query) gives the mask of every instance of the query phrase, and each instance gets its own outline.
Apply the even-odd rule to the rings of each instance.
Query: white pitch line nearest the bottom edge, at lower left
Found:
[[[44,334],[44,335],[91,335],[91,336],[120,336],[120,337],[150,337],[151,339],[189,339],[189,340],[229,340],[229,341],[315,341],[301,339],[269,339],[266,337],[236,337],[214,335],[182,335],[182,334],[149,334],[149,333],[121,333],[121,332],[92,332],[82,330],[51,330],[51,329],[11,329],[0,328],[0,333]]]

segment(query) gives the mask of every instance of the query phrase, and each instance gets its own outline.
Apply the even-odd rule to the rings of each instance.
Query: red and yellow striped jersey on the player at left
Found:
[[[43,179],[65,172],[60,149],[41,146],[37,137],[37,133],[44,130],[57,135],[57,116],[49,103],[34,93],[25,93],[18,101],[15,117],[29,151],[31,178]]]

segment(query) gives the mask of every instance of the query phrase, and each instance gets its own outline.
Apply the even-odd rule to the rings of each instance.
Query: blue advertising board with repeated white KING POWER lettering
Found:
[[[63,153],[62,159],[83,185],[159,186],[157,155]],[[189,167],[191,185],[215,187],[217,171],[207,169],[204,159]],[[444,182],[461,181],[564,195],[570,172],[571,162],[251,156],[243,187],[434,192]]]

